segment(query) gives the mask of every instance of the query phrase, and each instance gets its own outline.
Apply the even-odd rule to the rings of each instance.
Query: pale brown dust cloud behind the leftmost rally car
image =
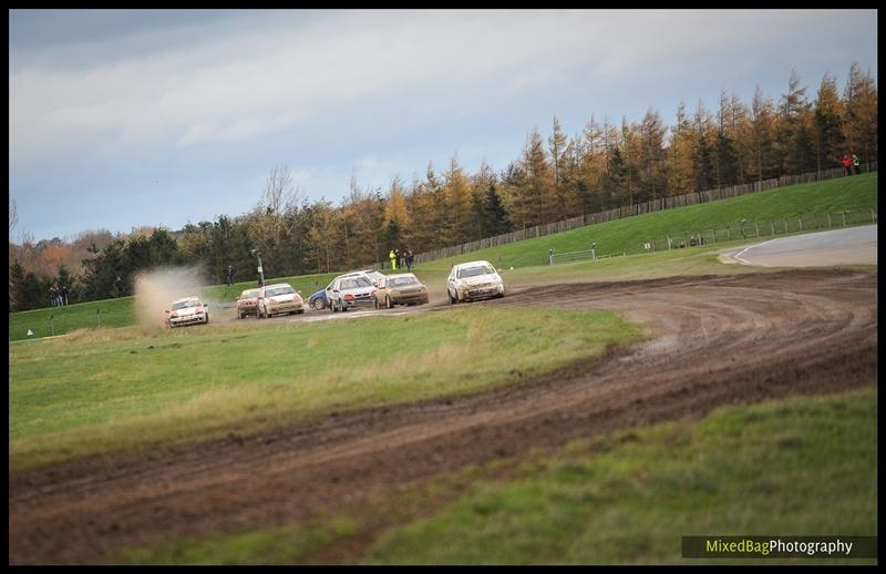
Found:
[[[206,285],[200,267],[162,267],[135,278],[135,312],[142,327],[164,327],[166,310],[175,299],[199,296]],[[204,303],[208,303],[204,299]]]

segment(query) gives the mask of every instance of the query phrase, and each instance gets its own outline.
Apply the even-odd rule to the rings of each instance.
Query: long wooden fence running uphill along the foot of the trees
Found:
[[[876,172],[877,162],[872,162],[863,165],[863,173]],[[715,202],[719,199],[728,199],[730,197],[739,197],[758,192],[765,192],[767,189],[775,189],[777,187],[787,187],[789,185],[797,185],[802,183],[822,182],[825,180],[833,180],[843,177],[843,167],[835,167],[833,170],[823,170],[821,172],[808,172],[800,175],[783,175],[772,180],[763,180],[742,185],[733,185],[731,187],[721,187],[717,189],[708,189],[705,192],[694,192],[683,195],[674,195],[672,197],[660,197],[649,202],[638,203],[633,205],[626,205],[624,207],[616,207],[605,212],[579,215],[570,219],[562,222],[548,223],[536,225],[535,227],[527,227],[517,232],[504,233],[494,237],[486,237],[476,242],[463,243],[462,245],[454,245],[452,247],[443,247],[432,252],[424,252],[415,255],[415,263],[425,263],[433,259],[442,259],[444,257],[452,257],[454,255],[463,255],[465,253],[486,249],[488,247],[496,247],[498,245],[507,245],[514,242],[522,242],[524,239],[532,239],[534,237],[542,237],[555,233],[568,232],[584,227],[586,225],[596,225],[598,223],[614,222],[616,219],[624,219],[626,217],[633,217],[647,213],[660,212],[663,209],[673,209],[676,207],[686,207],[688,205],[698,205],[701,203]],[[390,262],[377,263],[377,269],[384,269],[390,267]]]

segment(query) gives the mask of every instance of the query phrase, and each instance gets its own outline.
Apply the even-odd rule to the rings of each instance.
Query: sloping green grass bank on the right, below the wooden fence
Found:
[[[649,238],[694,233],[749,222],[796,217],[801,214],[877,208],[877,174],[792,185],[730,199],[666,209],[615,222],[589,225],[544,237],[481,249],[455,257],[423,263],[421,269],[449,273],[457,264],[486,259],[496,267],[544,265],[548,249],[557,253],[587,250],[598,254],[636,252]]]

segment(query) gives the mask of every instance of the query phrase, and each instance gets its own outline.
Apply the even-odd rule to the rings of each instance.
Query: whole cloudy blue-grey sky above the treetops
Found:
[[[671,124],[792,70],[812,100],[876,53],[876,10],[10,10],[10,238],[237,216],[276,166],[333,205],[501,172],[555,115]]]

